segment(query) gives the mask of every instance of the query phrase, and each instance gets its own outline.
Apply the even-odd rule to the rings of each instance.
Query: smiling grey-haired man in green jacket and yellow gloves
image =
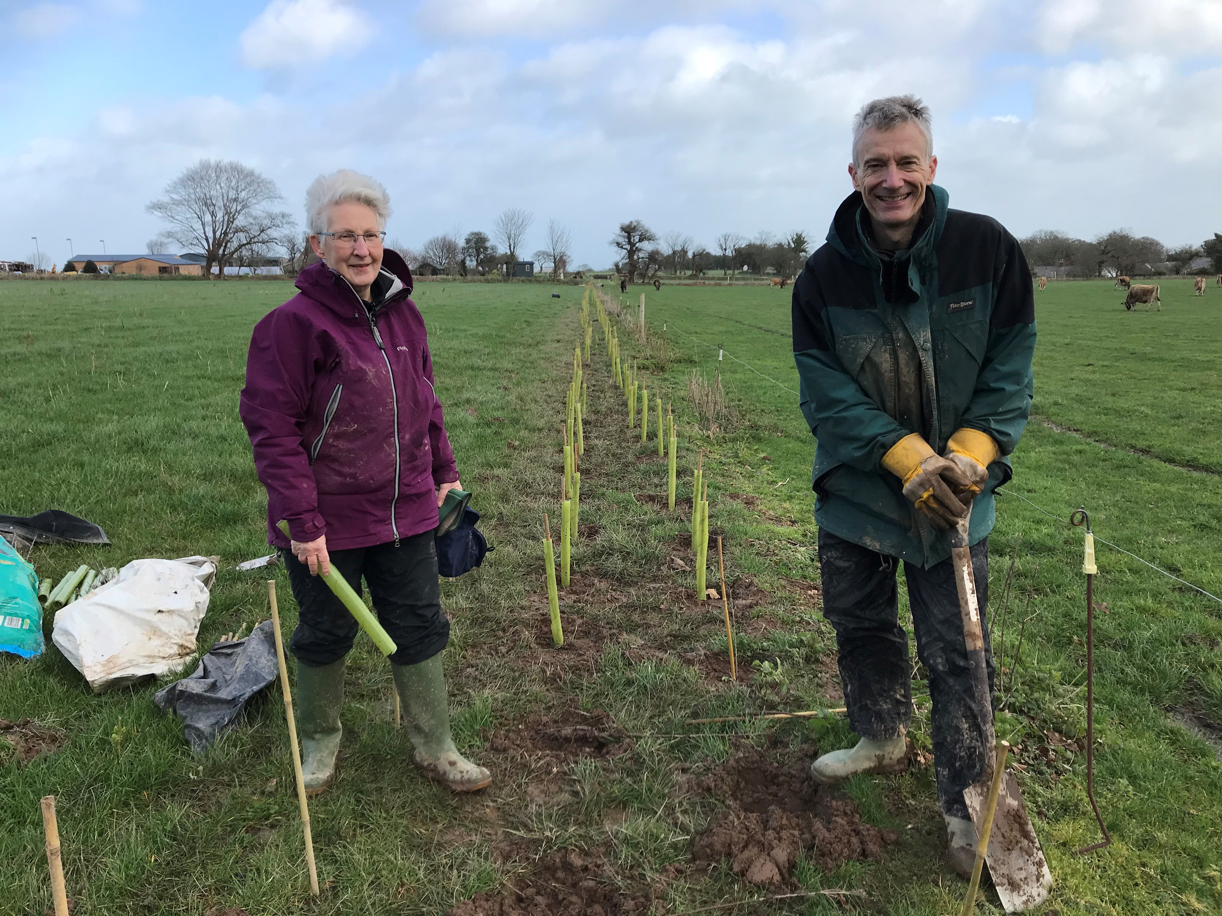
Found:
[[[948,208],[932,147],[929,109],[912,95],[858,112],[854,191],[793,288],[802,410],[818,440],[824,616],[860,736],[819,757],[811,774],[835,784],[903,765],[912,721],[896,589],[903,562],[929,672],[947,855],[967,878],[976,834],[963,790],[985,773],[993,713],[973,690],[947,531],[970,513],[984,617],[993,491],[1011,478],[1006,456],[1031,404],[1035,307],[1018,242],[989,216]]]

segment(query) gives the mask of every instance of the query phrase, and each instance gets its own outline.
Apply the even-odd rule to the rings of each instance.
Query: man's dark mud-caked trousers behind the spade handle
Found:
[[[912,662],[908,634],[898,620],[898,562],[896,557],[819,531],[824,617],[836,630],[849,725],[863,738],[896,738],[912,722]],[[991,692],[993,666],[985,619],[987,537],[971,548],[971,568],[980,600]],[[904,563],[904,579],[916,631],[916,656],[929,671],[929,692],[934,702],[938,804],[946,815],[967,817],[963,790],[984,774],[984,717],[992,716],[992,711],[980,708],[971,688],[951,561],[929,569]]]

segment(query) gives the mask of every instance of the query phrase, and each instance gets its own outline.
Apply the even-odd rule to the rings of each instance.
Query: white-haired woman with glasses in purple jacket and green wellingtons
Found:
[[[301,608],[297,658],[306,790],[335,777],[345,656],[357,622],[319,572],[369,585],[417,765],[456,791],[491,776],[450,735],[434,529],[446,493],[461,489],[433,391],[424,320],[412,274],[382,248],[390,199],[364,175],[319,176],[306,193],[310,245],[321,261],[301,291],[254,327],[241,415],[268,489],[268,539],[279,547]],[[288,523],[291,537],[276,528]]]

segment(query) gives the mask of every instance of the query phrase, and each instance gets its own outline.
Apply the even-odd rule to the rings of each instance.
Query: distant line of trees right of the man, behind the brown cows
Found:
[[[1112,230],[1092,241],[1064,232],[1044,230],[1020,238],[1031,270],[1056,270],[1063,276],[1140,276],[1195,272],[1222,274],[1222,234],[1213,233],[1200,245],[1167,248],[1157,238],[1134,236],[1130,230]],[[1211,265],[1193,267],[1199,258]]]

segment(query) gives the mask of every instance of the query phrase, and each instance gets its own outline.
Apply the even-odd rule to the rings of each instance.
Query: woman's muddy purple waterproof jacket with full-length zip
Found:
[[[240,414],[268,489],[268,542],[326,535],[369,547],[437,526],[439,484],[458,479],[412,272],[382,256],[364,302],[325,263],[254,326]]]

